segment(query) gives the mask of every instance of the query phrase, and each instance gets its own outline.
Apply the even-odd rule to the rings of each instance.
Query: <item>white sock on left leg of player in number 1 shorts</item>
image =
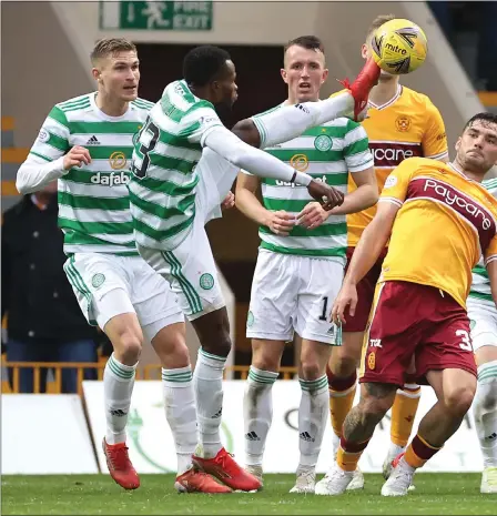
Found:
[[[267,433],[273,421],[272,388],[278,373],[248,370],[245,395],[243,396],[243,421],[245,427],[245,464],[262,466]]]

